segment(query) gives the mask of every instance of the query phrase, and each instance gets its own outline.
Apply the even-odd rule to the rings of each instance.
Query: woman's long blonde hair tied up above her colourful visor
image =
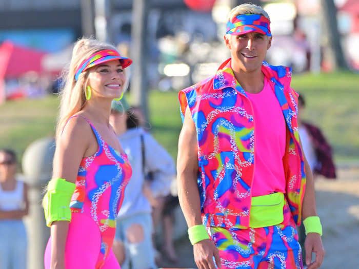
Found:
[[[114,46],[99,42],[97,39],[93,38],[81,38],[75,43],[70,64],[68,68],[64,69],[62,75],[63,87],[59,93],[61,101],[57,118],[56,140],[61,135],[68,119],[81,111],[86,105],[87,99],[85,96],[85,89],[88,83],[89,70],[82,72],[76,81],[75,72],[78,66],[92,54],[102,50],[117,51]],[[127,86],[128,79],[126,76],[126,83],[122,87],[123,91],[127,89]]]

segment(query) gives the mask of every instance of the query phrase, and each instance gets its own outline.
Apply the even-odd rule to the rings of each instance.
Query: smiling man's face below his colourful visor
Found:
[[[271,46],[272,37],[257,32],[242,35],[225,35],[227,48],[231,51],[234,71],[253,72],[260,69]]]

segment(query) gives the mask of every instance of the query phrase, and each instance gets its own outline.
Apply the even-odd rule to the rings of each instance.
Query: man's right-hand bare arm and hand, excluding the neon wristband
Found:
[[[309,167],[308,161],[304,155],[302,142],[300,141],[300,143],[301,143],[302,153],[304,156],[306,179],[307,179],[306,190],[305,190],[303,205],[302,205],[302,220],[305,220],[307,217],[316,216],[316,204],[315,204],[313,174]],[[325,255],[320,234],[308,233],[305,239],[304,247],[306,250],[306,264],[308,265],[307,269],[319,268],[323,263],[323,259]],[[315,260],[311,263],[312,252],[315,253]]]

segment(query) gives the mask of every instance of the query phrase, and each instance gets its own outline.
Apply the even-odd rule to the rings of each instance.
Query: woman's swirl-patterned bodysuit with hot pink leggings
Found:
[[[86,120],[96,136],[98,150],[83,158],[78,169],[70,202],[72,215],[65,246],[66,269],[119,268],[111,246],[115,217],[132,169],[127,155],[110,147]],[[50,261],[51,237],[45,251],[45,268],[50,268]]]

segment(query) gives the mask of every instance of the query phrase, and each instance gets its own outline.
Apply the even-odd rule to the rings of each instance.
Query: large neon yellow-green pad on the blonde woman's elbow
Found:
[[[46,225],[53,221],[71,221],[70,200],[76,185],[63,178],[51,179],[43,199]]]

